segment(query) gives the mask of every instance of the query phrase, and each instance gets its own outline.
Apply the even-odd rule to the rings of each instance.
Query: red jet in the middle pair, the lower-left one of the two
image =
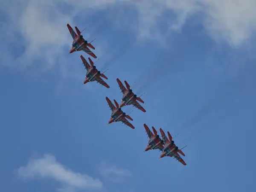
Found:
[[[116,100],[114,99],[115,105],[113,105],[113,103],[110,101],[110,99],[108,99],[108,97],[106,97],[106,100],[108,102],[108,106],[110,107],[111,112],[111,117],[110,120],[108,121],[108,124],[112,123],[112,122],[119,122],[121,121],[122,123],[124,123],[125,125],[129,126],[130,128],[134,129],[135,127],[128,122],[127,119],[130,119],[131,121],[133,121],[133,119],[129,116],[126,115],[121,108],[119,108],[118,103],[116,102]],[[127,118],[127,119],[126,119]]]

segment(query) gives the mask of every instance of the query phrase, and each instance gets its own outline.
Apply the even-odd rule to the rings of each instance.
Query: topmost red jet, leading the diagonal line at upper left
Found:
[[[90,56],[92,56],[93,58],[97,58],[96,55],[88,48],[92,48],[95,49],[93,47],[93,45],[91,44],[93,41],[91,41],[90,43],[88,43],[86,40],[84,40],[83,35],[81,35],[81,32],[79,31],[79,29],[75,26],[76,32],[74,32],[74,30],[72,29],[72,27],[67,24],[67,28],[70,31],[70,34],[73,38],[73,43],[72,43],[72,48],[70,49],[69,53],[73,53],[75,51],[84,51],[87,54],[89,54]]]

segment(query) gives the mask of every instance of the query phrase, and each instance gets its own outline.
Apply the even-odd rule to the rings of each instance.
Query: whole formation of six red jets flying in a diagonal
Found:
[[[76,32],[75,32],[69,24],[67,24],[67,28],[69,29],[69,32],[73,38],[72,48],[70,49],[69,54],[75,51],[84,51],[88,55],[92,56],[93,58],[97,58],[96,55],[89,49],[89,48],[95,49],[95,47],[93,47],[93,45],[91,44],[95,39],[90,43],[88,43],[88,41],[84,40],[83,35],[81,35],[81,32],[83,31],[80,32],[79,29],[75,26],[75,29],[76,29]],[[96,61],[93,62],[90,57],[88,57],[90,64],[82,55],[80,57],[87,71],[83,84],[96,81],[102,86],[110,88],[110,86],[102,79],[104,78],[108,80],[108,77],[104,75],[106,71],[104,73],[101,73],[99,70],[97,70],[95,66]],[[122,111],[122,107],[127,105],[133,105],[135,108],[145,113],[146,110],[140,105],[140,103],[144,103],[144,101],[140,98],[140,96],[137,96],[136,94],[133,93],[133,91],[131,90],[131,86],[128,84],[127,81],[124,81],[125,86],[118,78],[116,79],[116,81],[122,93],[122,101],[119,105],[116,102],[116,100],[113,99],[113,102],[114,102],[113,104],[113,102],[111,102],[111,100],[108,99],[108,97],[106,97],[106,101],[111,110],[111,115],[110,115],[108,124],[112,122],[122,122],[128,127],[134,129],[135,128],[134,125],[132,125],[131,122],[128,121],[128,119],[130,121],[133,121],[133,119],[131,118],[131,116],[129,116],[129,114],[126,114]],[[185,156],[185,154],[181,150],[186,146],[179,149],[175,145],[175,142],[173,140],[174,137],[171,136],[169,131],[167,131],[167,134],[169,137],[167,138],[166,134],[163,132],[163,129],[160,128],[160,134],[162,137],[161,139],[159,134],[157,134],[157,130],[153,126],[152,126],[153,133],[150,131],[150,129],[146,124],[144,124],[144,128],[149,138],[148,145],[145,148],[145,151],[157,149],[159,151],[162,151],[162,154],[160,155],[159,158],[173,157],[183,165],[186,165],[185,161],[182,159],[182,157],[180,157],[180,154],[182,156]]]

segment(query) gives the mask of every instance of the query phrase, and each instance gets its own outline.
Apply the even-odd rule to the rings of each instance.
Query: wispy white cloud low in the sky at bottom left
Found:
[[[102,189],[103,183],[99,179],[73,172],[57,162],[55,157],[45,154],[44,157],[29,160],[26,166],[18,169],[18,175],[24,179],[35,177],[51,178],[61,183],[59,191],[76,189]]]

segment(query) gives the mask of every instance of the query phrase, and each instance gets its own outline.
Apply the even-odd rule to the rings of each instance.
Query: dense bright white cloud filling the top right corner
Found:
[[[206,7],[205,27],[216,39],[239,45],[256,30],[255,0],[201,0]]]

